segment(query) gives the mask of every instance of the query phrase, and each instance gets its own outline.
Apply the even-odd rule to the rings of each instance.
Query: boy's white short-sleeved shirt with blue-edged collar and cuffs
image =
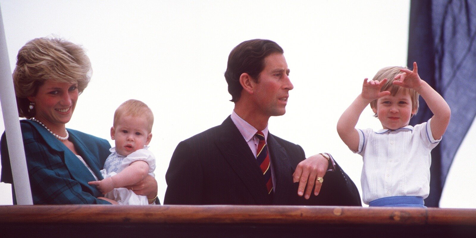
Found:
[[[357,129],[358,151],[364,159],[362,197],[365,204],[391,196],[426,198],[430,192],[431,150],[441,139],[433,139],[428,122],[396,130]]]

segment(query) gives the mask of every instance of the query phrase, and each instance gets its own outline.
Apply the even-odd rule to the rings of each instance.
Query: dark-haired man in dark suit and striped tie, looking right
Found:
[[[355,184],[327,153],[306,159],[300,146],[268,132],[268,119],[285,114],[293,89],[283,53],[260,39],[230,52],[233,113],[178,144],[164,204],[361,206]]]

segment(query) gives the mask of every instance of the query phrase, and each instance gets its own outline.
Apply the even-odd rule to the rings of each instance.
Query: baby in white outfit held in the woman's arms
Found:
[[[114,113],[111,127],[111,139],[116,147],[104,163],[101,181],[91,181],[106,198],[113,199],[119,205],[147,205],[155,200],[137,195],[132,190],[123,188],[135,184],[148,174],[154,176],[155,157],[147,149],[152,139],[154,115],[149,107],[139,101],[130,99],[122,103]]]

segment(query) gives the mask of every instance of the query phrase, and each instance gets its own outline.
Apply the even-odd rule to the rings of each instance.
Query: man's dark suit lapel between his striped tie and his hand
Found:
[[[276,188],[274,188],[273,204],[290,204],[287,202],[293,194],[293,171],[286,149],[282,147],[271,133],[266,141],[271,154]],[[296,191],[297,193],[297,191]]]

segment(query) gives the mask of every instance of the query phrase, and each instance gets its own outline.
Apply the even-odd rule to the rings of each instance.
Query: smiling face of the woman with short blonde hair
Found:
[[[35,103],[35,118],[47,126],[66,124],[73,115],[78,100],[77,83],[46,80],[38,93],[28,99]]]

